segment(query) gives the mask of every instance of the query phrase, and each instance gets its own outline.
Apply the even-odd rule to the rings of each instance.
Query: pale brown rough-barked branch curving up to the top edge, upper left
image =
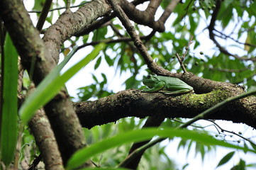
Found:
[[[64,13],[56,23],[46,30],[43,40],[50,51],[50,57],[59,61],[59,51],[62,43],[70,38],[74,33],[78,33],[83,28],[87,28],[92,21],[106,15],[111,8],[104,0],[95,0],[82,6],[74,13]]]

